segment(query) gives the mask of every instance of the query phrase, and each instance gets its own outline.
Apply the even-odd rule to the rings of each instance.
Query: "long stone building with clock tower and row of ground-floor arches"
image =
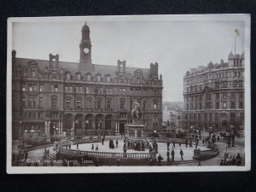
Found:
[[[126,61],[117,61],[116,66],[92,64],[86,23],[81,32],[79,63],[52,54],[49,60],[17,58],[13,51],[13,137],[28,132],[124,132],[136,100],[146,130],[160,129],[163,87],[158,63],[150,68],[127,67]]]

